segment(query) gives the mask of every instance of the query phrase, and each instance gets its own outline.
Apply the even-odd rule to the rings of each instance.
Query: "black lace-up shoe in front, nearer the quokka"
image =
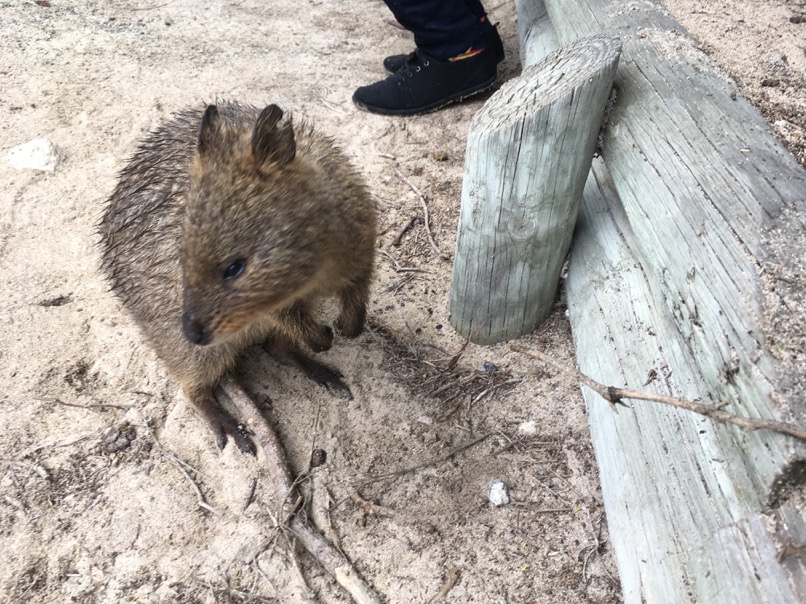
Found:
[[[361,109],[383,115],[416,115],[478,94],[495,84],[496,60],[483,52],[459,61],[439,61],[421,50],[385,80],[353,94]]]

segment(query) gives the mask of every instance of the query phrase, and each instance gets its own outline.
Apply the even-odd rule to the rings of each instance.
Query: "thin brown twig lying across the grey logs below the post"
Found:
[[[510,344],[509,348],[514,352],[519,352],[529,358],[549,365],[561,373],[573,377],[593,390],[611,405],[624,404],[622,399],[625,398],[649,401],[653,403],[662,403],[664,405],[677,407],[678,409],[693,411],[694,413],[704,415],[705,417],[710,417],[714,421],[723,424],[733,424],[734,426],[739,426],[740,428],[744,428],[745,430],[749,430],[751,432],[755,430],[773,430],[774,432],[780,432],[782,434],[794,436],[795,438],[800,438],[801,440],[806,440],[806,429],[798,426],[797,424],[790,424],[787,422],[770,419],[742,417],[740,415],[723,411],[722,408],[730,404],[727,401],[722,401],[714,405],[703,405],[702,403],[695,403],[694,401],[676,398],[673,396],[666,396],[663,394],[656,394],[654,392],[643,392],[640,390],[628,390],[625,388],[605,386],[604,384],[600,384],[579,371],[570,369],[561,365],[560,363],[557,363],[555,360],[541,352],[537,352],[535,350],[528,351],[525,348],[521,348],[515,344]]]

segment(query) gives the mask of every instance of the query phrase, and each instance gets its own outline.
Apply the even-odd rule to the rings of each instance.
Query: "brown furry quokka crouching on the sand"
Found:
[[[208,421],[245,451],[251,440],[213,391],[247,346],[269,341],[311,377],[340,374],[307,359],[333,333],[311,314],[341,301],[338,326],[363,329],[376,238],[362,179],[306,124],[221,103],[176,114],[148,135],[100,223],[103,270],[149,344]]]

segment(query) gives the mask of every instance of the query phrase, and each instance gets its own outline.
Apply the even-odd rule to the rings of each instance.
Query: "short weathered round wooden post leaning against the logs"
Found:
[[[504,84],[470,126],[451,323],[480,344],[551,310],[621,52],[595,36]]]

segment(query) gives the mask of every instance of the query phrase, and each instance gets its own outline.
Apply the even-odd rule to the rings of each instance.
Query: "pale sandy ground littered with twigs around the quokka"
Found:
[[[512,4],[488,4],[502,81],[519,71]],[[668,2],[806,161],[803,4],[716,4]],[[427,602],[457,576],[446,602],[620,600],[577,387],[504,345],[471,345],[447,368],[463,345],[451,265],[407,181],[452,253],[484,98],[414,119],[358,111],[352,90],[411,49],[381,2],[0,0],[0,48],[0,601],[349,601],[273,533],[262,456],[217,450],[98,270],[95,224],[138,138],[222,98],[313,121],[380,210],[370,327],[322,355],[354,400],[258,349],[239,368],[295,473],[327,452],[302,483],[311,521],[389,602]],[[55,171],[12,167],[7,151],[39,137],[60,150]],[[564,311],[561,299],[522,344],[573,363]],[[508,505],[489,503],[493,479]]]

